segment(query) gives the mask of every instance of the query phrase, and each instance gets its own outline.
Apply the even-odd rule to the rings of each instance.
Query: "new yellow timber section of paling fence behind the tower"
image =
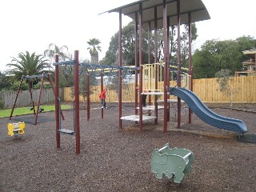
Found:
[[[170,86],[176,86],[177,82],[170,81]],[[183,82],[182,86],[188,88],[188,83]],[[230,97],[219,90],[217,78],[194,79],[194,93],[202,102],[230,102]],[[163,82],[158,82],[159,90],[163,89]],[[91,102],[100,102],[98,95],[100,94],[100,86],[94,86],[94,93],[90,95]],[[230,78],[230,90],[233,102],[256,102],[256,76],[234,77]],[[124,86],[122,90],[122,102],[134,102],[135,95],[134,83]],[[159,99],[162,99],[161,97]],[[72,101],[70,88],[64,89],[64,101]],[[82,97],[80,97],[82,102]],[[106,94],[107,102],[118,102],[118,91],[108,90]]]

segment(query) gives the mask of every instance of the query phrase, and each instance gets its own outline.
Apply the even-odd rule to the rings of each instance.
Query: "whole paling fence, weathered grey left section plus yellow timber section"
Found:
[[[175,81],[170,82],[170,86],[176,86]],[[188,83],[182,84],[188,87]],[[160,90],[163,88],[163,82],[158,82]],[[219,90],[217,78],[201,78],[193,81],[194,93],[202,102],[230,102],[230,97]],[[100,86],[93,87],[93,94],[90,95],[91,102],[100,102],[98,95],[100,94]],[[256,76],[233,77],[230,78],[230,90],[233,102],[246,103],[256,102]],[[122,102],[134,102],[135,95],[134,83],[126,84],[122,90]],[[0,92],[0,102],[4,108],[11,108],[14,105],[16,91]],[[33,100],[38,102],[39,90],[33,90]],[[70,87],[59,90],[61,101],[73,101]],[[159,97],[162,99],[162,96]],[[80,97],[82,102],[83,98]],[[107,102],[118,102],[118,90],[108,90],[106,94]],[[54,93],[51,89],[42,90],[41,103],[54,102]],[[17,106],[30,106],[30,92],[22,90],[18,96]]]

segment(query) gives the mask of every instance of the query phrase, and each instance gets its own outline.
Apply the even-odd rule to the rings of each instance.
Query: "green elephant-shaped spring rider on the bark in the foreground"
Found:
[[[173,182],[180,184],[186,174],[192,170],[194,154],[190,150],[169,148],[169,143],[160,150],[155,149],[151,155],[151,171],[156,178],[165,174]]]

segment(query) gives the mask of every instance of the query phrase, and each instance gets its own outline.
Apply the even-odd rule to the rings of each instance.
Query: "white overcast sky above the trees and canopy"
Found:
[[[8,0],[0,2],[0,70],[6,70],[11,57],[28,50],[43,54],[50,43],[68,46],[79,58],[90,59],[87,41],[98,38],[105,56],[110,38],[118,31],[118,14],[100,14],[135,0]],[[255,0],[202,0],[210,20],[197,22],[200,47],[209,39],[256,37]],[[100,14],[100,15],[98,15]],[[130,22],[123,17],[123,25]]]

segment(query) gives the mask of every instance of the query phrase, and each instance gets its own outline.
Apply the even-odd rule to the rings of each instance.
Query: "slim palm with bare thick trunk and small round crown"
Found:
[[[91,38],[87,43],[89,45],[87,50],[90,52],[91,62],[98,64],[98,51],[102,51],[101,46],[99,46],[100,40],[98,38]]]

